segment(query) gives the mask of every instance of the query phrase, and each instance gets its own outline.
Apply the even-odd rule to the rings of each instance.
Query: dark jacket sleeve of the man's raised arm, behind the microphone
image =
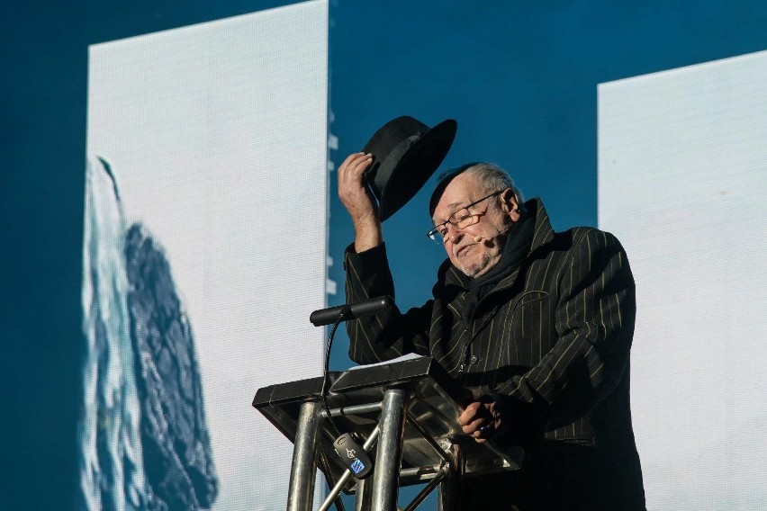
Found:
[[[347,303],[394,296],[386,247],[374,247],[357,254],[347,247],[344,254]],[[374,316],[347,322],[349,357],[356,363],[377,363],[402,354],[429,354],[429,318],[433,301],[402,314],[396,306]]]

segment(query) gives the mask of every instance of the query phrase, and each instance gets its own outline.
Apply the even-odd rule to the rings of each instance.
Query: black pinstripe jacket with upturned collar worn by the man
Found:
[[[469,278],[446,260],[422,307],[347,323],[349,356],[376,363],[430,355],[466,387],[539,410],[547,441],[613,456],[609,470],[641,491],[628,398],[636,303],[626,253],[598,229],[555,233],[540,200],[526,206],[535,214],[528,255],[468,324]],[[347,250],[345,267],[347,302],[394,295],[385,247]]]

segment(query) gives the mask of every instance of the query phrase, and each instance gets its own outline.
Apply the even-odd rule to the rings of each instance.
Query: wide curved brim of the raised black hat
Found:
[[[429,181],[453,146],[457,129],[456,121],[442,121],[408,148],[399,162],[389,168],[383,162],[375,179],[385,183],[378,201],[381,221],[399,211]]]

